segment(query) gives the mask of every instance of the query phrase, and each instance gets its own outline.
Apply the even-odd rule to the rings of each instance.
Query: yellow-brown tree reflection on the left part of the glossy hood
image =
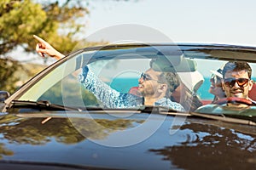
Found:
[[[22,114],[22,113],[20,113]],[[88,113],[84,113],[88,114]],[[5,115],[0,117],[0,133],[2,139],[13,144],[47,144],[53,140],[62,144],[75,144],[90,139],[106,139],[113,132],[134,127],[134,123],[142,120],[126,119],[89,119],[81,117],[67,117],[63,113],[59,118],[52,117],[44,124],[45,117],[30,118]],[[72,113],[70,113],[72,116]],[[1,156],[0,143],[0,156]]]

